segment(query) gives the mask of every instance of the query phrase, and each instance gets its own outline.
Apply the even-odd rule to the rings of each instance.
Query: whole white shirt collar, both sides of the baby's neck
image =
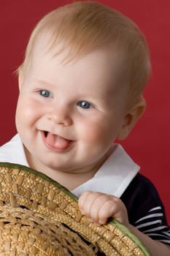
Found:
[[[19,135],[15,135],[9,143],[0,147],[0,162],[12,162],[28,166]],[[131,157],[125,153],[123,147],[115,144],[115,150],[96,175],[74,189],[72,193],[80,197],[82,192],[90,190],[120,197],[139,169],[139,165],[136,165]]]

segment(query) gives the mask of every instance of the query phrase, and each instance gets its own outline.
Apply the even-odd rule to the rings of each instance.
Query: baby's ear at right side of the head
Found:
[[[123,126],[117,136],[117,140],[124,140],[128,137],[131,130],[134,128],[136,122],[141,118],[146,109],[146,102],[143,96],[140,97],[139,101],[133,105],[125,114]]]

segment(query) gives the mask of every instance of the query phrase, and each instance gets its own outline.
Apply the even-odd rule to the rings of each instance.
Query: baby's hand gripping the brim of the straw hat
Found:
[[[79,198],[82,214],[97,224],[105,224],[109,217],[128,226],[128,213],[120,198],[100,192],[83,192]]]

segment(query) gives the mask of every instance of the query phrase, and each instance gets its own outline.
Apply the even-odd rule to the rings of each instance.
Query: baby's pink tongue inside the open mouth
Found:
[[[52,148],[66,148],[69,146],[70,140],[66,140],[58,135],[53,135],[52,133],[47,134],[46,142],[48,146]]]

